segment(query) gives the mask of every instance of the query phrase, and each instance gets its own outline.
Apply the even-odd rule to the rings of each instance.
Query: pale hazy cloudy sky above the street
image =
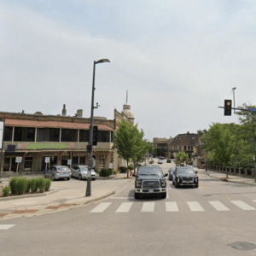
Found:
[[[113,119],[128,102],[145,138],[196,133],[256,105],[254,0],[0,0],[0,111]],[[232,105],[234,102],[232,102]]]

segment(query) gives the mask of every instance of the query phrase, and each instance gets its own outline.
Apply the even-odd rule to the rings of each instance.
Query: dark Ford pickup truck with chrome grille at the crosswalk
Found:
[[[166,176],[160,166],[141,166],[137,172],[134,197],[139,198],[139,195],[160,195],[161,198],[166,198]]]

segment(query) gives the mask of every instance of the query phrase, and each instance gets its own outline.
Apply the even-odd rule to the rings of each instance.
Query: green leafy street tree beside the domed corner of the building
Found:
[[[119,156],[127,162],[127,177],[129,161],[141,159],[148,150],[148,143],[143,140],[143,136],[143,131],[138,131],[137,125],[125,119],[119,122],[118,129],[113,133],[113,145]]]

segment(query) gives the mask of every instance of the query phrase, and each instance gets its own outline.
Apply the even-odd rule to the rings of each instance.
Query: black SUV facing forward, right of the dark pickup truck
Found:
[[[176,167],[172,174],[172,184],[177,188],[180,185],[195,185],[195,188],[198,188],[198,177],[197,172],[189,167]]]

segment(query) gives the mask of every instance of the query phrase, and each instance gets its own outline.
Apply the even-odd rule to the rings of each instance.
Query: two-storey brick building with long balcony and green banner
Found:
[[[17,156],[22,157],[19,164],[21,172],[44,171],[45,157],[49,157],[49,166],[67,166],[67,160],[72,160],[72,166],[88,166],[86,146],[89,143],[90,118],[83,118],[82,115],[83,111],[79,109],[73,117],[66,116],[65,105],[59,115],[0,112],[0,119],[5,123],[2,174],[16,172]],[[114,109],[113,119],[94,118],[94,125],[98,126],[98,143],[93,146],[92,154],[97,169],[108,168],[109,163],[113,163],[113,170],[117,170],[121,165],[122,160],[113,148],[113,131],[122,119],[131,121],[134,117],[129,119],[125,113]]]

